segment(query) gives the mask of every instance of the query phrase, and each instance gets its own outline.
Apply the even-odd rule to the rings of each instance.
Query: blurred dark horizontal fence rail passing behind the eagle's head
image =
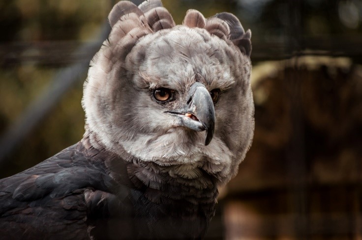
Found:
[[[300,42],[302,51],[289,50],[288,40],[253,40],[252,60],[278,60],[295,55],[349,56],[362,60],[362,37],[355,38],[304,38]],[[93,47],[76,51],[80,46]],[[90,53],[98,50],[92,42],[79,41],[43,41],[12,42],[0,44],[0,67],[11,67],[20,63],[33,62],[46,66],[64,66],[88,59]]]

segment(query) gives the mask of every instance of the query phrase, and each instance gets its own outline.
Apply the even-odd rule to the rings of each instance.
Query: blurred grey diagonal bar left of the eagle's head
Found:
[[[110,31],[108,23],[104,23],[94,37],[92,43],[84,44],[74,55],[78,56],[76,63],[60,70],[52,80],[52,84],[18,118],[15,123],[0,138],[0,165],[4,163],[5,157],[26,137],[28,133],[39,124],[40,120],[54,107],[63,94],[77,81],[82,73],[89,68],[93,55],[98,51],[102,42]],[[39,47],[44,45],[39,45]],[[46,46],[46,45],[45,45]],[[17,47],[16,47],[17,48]],[[10,49],[11,50],[11,49]],[[23,48],[24,50],[24,48]],[[1,51],[4,50],[3,46]],[[40,51],[47,52],[47,51]],[[15,52],[16,53],[16,52]],[[53,54],[50,54],[53,56]],[[2,54],[2,56],[9,56]],[[54,56],[57,57],[57,56]],[[45,61],[47,58],[43,58]],[[22,62],[24,59],[21,59]],[[39,60],[39,57],[38,59]],[[1,63],[4,59],[1,59]],[[6,62],[6,61],[5,61]]]

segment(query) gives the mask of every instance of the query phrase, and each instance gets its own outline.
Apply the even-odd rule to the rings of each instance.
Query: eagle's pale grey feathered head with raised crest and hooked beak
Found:
[[[193,9],[176,25],[160,0],[120,1],[108,19],[82,100],[94,147],[226,183],[254,132],[251,31],[230,13]]]

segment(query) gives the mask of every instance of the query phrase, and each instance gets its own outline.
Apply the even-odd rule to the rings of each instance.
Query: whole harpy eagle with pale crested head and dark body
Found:
[[[202,239],[251,144],[251,32],[230,13],[118,2],[83,138],[0,180],[0,239]]]

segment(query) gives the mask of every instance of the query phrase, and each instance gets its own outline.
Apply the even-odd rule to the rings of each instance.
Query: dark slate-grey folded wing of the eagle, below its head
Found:
[[[121,198],[112,193],[116,184],[104,161],[85,158],[79,146],[0,180],[0,236],[89,239],[93,217],[105,219],[129,207],[120,208]]]

